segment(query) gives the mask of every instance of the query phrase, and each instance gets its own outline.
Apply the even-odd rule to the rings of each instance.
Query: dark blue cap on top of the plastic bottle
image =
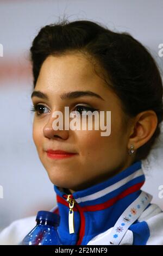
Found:
[[[60,216],[58,214],[54,214],[51,211],[38,211],[36,216],[36,221],[51,221],[57,225],[60,223]]]

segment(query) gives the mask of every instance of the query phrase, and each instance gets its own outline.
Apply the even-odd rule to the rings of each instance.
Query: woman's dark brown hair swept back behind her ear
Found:
[[[153,136],[136,152],[137,161],[145,159],[160,134],[163,120],[162,80],[151,53],[129,33],[116,33],[89,20],[63,20],[42,27],[33,40],[30,57],[34,87],[44,60],[68,51],[82,52],[95,60],[128,117],[148,109],[156,113],[158,125]]]

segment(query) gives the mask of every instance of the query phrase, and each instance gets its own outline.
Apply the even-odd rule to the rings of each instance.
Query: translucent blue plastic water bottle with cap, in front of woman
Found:
[[[50,211],[39,211],[36,226],[24,237],[20,245],[62,245],[58,234],[60,216]]]

